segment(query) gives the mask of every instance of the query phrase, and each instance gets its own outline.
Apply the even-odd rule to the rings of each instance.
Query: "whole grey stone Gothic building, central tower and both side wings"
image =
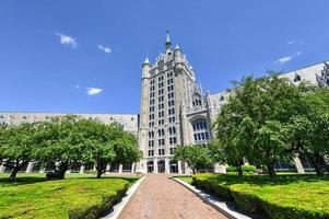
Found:
[[[310,67],[283,73],[293,84],[309,81],[313,84],[329,85],[329,64],[325,61]],[[189,173],[180,161],[173,161],[175,148],[184,145],[203,145],[213,138],[211,123],[221,107],[228,101],[231,91],[204,94],[197,83],[196,73],[179,46],[173,48],[169,34],[166,35],[165,49],[154,62],[146,58],[142,64],[140,114],[78,114],[85,118],[96,118],[103,123],[119,123],[124,129],[134,134],[143,159],[133,164],[108,165],[110,172],[142,173]],[[46,120],[52,113],[0,113],[0,123],[15,125],[22,122]],[[312,170],[307,160],[293,158],[293,165],[278,162],[280,170]],[[28,164],[23,171],[47,171]],[[94,166],[75,166],[72,172],[85,172]],[[0,173],[5,168],[0,166]],[[215,172],[224,166],[216,164]]]

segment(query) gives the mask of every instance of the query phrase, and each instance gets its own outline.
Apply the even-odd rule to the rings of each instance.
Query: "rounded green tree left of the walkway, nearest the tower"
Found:
[[[107,171],[108,163],[137,162],[142,158],[134,136],[118,124],[105,125],[89,119],[80,125],[80,132],[85,139],[82,160],[96,164],[97,178]]]

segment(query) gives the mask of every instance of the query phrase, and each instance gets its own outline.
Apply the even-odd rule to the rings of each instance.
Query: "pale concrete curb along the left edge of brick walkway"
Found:
[[[107,215],[102,217],[101,219],[116,219],[119,217],[119,215],[121,214],[121,211],[124,210],[125,206],[127,205],[128,200],[131,198],[131,196],[134,194],[134,192],[138,189],[138,187],[140,186],[140,184],[143,182],[143,180],[145,178],[145,176],[143,175],[141,178],[139,178],[126,193],[126,196],[122,197],[122,199],[120,200],[120,203],[118,203],[117,205],[115,205],[113,207],[113,211]]]

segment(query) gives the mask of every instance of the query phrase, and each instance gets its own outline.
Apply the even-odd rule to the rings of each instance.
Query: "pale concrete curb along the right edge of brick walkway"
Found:
[[[232,208],[226,203],[219,200],[218,197],[207,194],[203,191],[197,188],[196,186],[192,186],[179,178],[175,178],[173,176],[171,176],[171,178],[173,181],[176,181],[177,183],[181,184],[186,188],[190,189],[192,193],[195,193],[197,196],[199,196],[202,200],[204,200],[205,203],[208,203],[209,205],[214,207],[216,210],[222,212],[227,218],[230,218],[230,219],[251,219],[250,217],[236,211],[236,209]]]

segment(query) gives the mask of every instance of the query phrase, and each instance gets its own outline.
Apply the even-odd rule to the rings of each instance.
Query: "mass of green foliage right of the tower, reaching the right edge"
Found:
[[[221,160],[257,160],[274,173],[273,163],[293,151],[328,151],[328,88],[293,85],[273,72],[235,84],[214,124]]]

